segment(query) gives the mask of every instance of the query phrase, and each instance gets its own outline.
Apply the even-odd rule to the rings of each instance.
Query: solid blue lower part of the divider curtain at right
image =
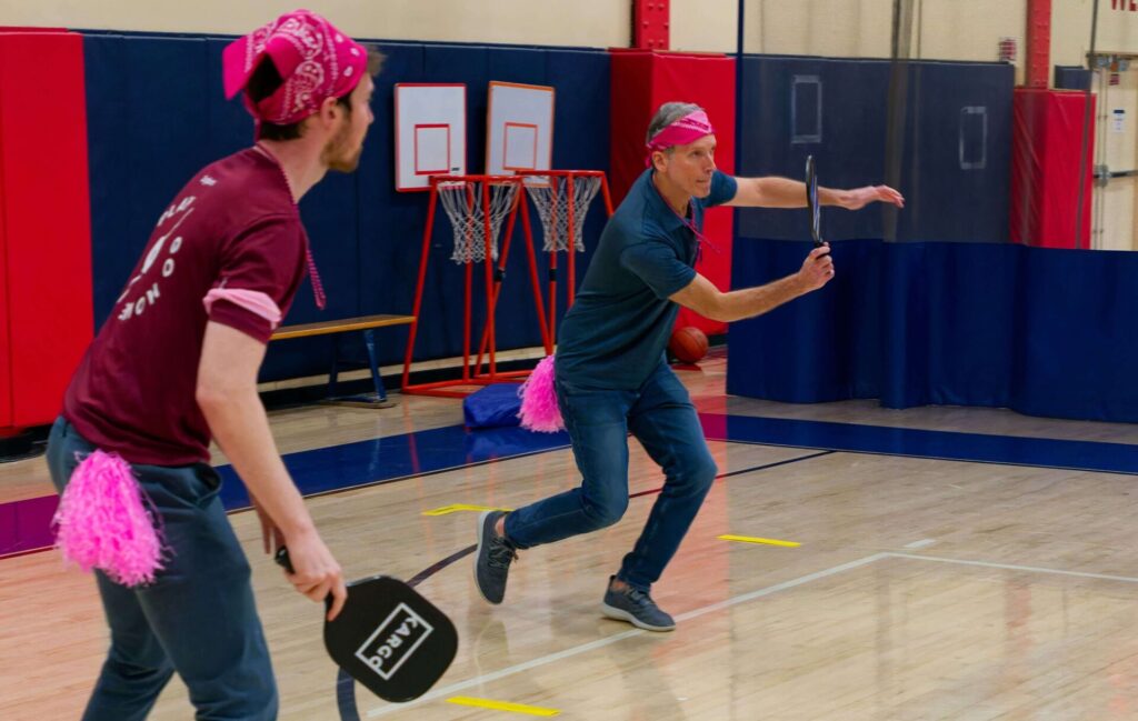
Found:
[[[807,246],[742,240],[733,285],[797,270]],[[727,392],[880,398],[1138,421],[1138,256],[991,243],[835,243],[824,290],[729,331]]]

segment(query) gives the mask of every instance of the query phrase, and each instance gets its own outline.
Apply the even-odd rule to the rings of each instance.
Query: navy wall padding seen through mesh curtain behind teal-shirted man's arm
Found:
[[[896,239],[1006,242],[1014,68],[979,63],[900,67],[904,122],[892,140],[901,149],[898,190],[906,197],[906,209],[897,215]],[[801,179],[806,157],[814,155],[825,187],[884,182],[891,68],[884,60],[745,57],[739,174]],[[795,77],[820,82],[820,140],[795,139]],[[807,106],[800,101],[797,113]],[[801,132],[811,123],[799,117],[794,125]],[[962,141],[971,167],[962,166]],[[850,214],[825,208],[823,235],[884,238],[887,214],[892,210]],[[807,229],[805,212],[740,212],[742,238],[802,239]]]

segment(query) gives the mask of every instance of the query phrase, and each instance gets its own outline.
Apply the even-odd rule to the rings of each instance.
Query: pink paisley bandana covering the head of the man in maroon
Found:
[[[308,10],[296,10],[231,42],[222,53],[225,97],[245,89],[266,57],[280,73],[280,89],[254,105],[245,106],[257,125],[291,125],[320,109],[328,98],[341,98],[368,72],[368,51]]]

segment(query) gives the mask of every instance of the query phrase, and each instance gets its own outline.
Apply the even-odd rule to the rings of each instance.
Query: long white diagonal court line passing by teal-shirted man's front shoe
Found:
[[[716,611],[721,611],[723,608],[728,608],[731,606],[747,603],[749,600],[754,600],[756,598],[761,598],[762,596],[769,596],[770,594],[776,594],[778,591],[786,590],[787,588],[794,588],[795,586],[802,586],[803,583],[809,583],[810,581],[817,581],[818,579],[824,579],[828,575],[835,575],[838,573],[844,573],[846,571],[851,571],[853,569],[871,564],[875,561],[881,561],[882,558],[888,558],[890,554],[880,553],[872,556],[866,556],[865,558],[858,558],[857,561],[851,561],[849,563],[843,563],[842,565],[833,566],[832,569],[826,569],[824,571],[818,571],[816,573],[810,573],[790,581],[783,581],[782,583],[776,583],[774,586],[768,586],[767,588],[761,588],[757,591],[751,591],[749,594],[743,594],[741,596],[735,596],[723,600],[710,606],[703,606],[702,608],[695,608],[694,611],[688,611],[687,613],[682,613],[676,616],[676,621],[687,621],[690,619],[695,619],[701,615],[714,613]],[[920,557],[920,556],[918,556]],[[521,673],[522,671],[529,671],[530,669],[536,669],[538,666],[544,666],[550,663],[555,663],[564,658],[570,658],[580,654],[588,653],[591,650],[596,650],[597,648],[604,648],[605,646],[611,646],[612,644],[619,644],[626,638],[633,638],[634,636],[643,636],[650,631],[643,631],[641,629],[634,629],[632,631],[625,631],[622,633],[617,633],[616,636],[608,636],[605,638],[597,639],[595,641],[589,641],[588,644],[583,644],[580,646],[574,646],[572,648],[566,648],[564,650],[559,650],[555,654],[550,654],[547,656],[541,656],[534,658],[533,661],[527,661],[525,663],[519,663],[512,665],[501,671],[494,671],[493,673],[486,673],[484,676],[475,677],[465,681],[460,681],[457,683],[452,683],[445,688],[431,691],[424,696],[420,696],[418,699],[406,703],[406,704],[389,704],[384,706],[378,706],[368,712],[369,719],[376,719],[379,716],[386,716],[388,714],[395,713],[397,711],[403,711],[404,708],[410,708],[429,701],[435,701],[437,698],[445,698],[452,696],[457,691],[467,690],[475,686],[480,686],[483,683],[489,683],[498,679],[503,679],[508,676],[513,676],[514,673]]]

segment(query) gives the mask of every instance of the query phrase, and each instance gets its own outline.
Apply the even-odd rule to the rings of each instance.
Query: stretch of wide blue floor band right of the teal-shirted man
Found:
[[[708,440],[1138,474],[1138,446],[1127,444],[721,414],[701,414],[700,421]]]

